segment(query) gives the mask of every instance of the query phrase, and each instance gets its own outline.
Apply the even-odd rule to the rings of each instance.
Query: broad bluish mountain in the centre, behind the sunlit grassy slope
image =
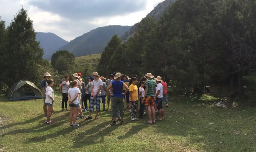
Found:
[[[72,52],[75,57],[99,54],[104,50],[108,41],[114,34],[120,37],[131,27],[132,26],[120,25],[98,27],[97,29],[93,29],[90,32],[76,37],[65,46],[60,47],[59,50],[68,50]]]

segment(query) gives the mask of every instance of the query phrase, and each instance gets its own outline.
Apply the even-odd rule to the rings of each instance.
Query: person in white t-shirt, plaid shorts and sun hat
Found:
[[[89,106],[89,116],[85,118],[85,120],[92,119],[91,112],[94,111],[94,105],[96,105],[96,115],[94,119],[98,119],[98,114],[101,109],[101,87],[102,87],[102,80],[99,79],[98,72],[93,72],[92,77],[94,80],[92,81],[91,86],[91,98],[90,98],[90,106]]]

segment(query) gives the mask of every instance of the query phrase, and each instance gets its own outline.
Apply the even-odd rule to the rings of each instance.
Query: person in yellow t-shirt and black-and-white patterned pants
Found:
[[[131,120],[137,121],[138,119],[136,116],[136,106],[138,104],[138,87],[136,85],[137,78],[133,77],[131,78],[132,84],[129,86],[129,92],[130,92],[130,103],[131,103]]]

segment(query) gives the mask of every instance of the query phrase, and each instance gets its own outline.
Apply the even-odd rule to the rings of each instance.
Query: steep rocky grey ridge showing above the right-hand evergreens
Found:
[[[165,9],[168,9],[169,5],[174,0],[165,0],[159,3],[146,17],[155,16],[156,20],[158,20],[164,13]],[[121,39],[125,42],[128,40],[130,36],[134,35],[135,30],[137,29],[139,23],[134,24],[128,31],[126,31],[122,36]]]

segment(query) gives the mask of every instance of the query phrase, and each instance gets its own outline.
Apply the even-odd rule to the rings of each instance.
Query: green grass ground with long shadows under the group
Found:
[[[0,96],[0,151],[256,151],[254,107],[219,109],[211,103],[220,98],[206,94],[169,96],[165,119],[156,125],[133,122],[126,112],[125,125],[110,126],[110,112],[102,111],[98,120],[77,120],[77,128],[69,127],[69,112],[60,111],[60,95],[50,126],[42,99],[9,102]]]

